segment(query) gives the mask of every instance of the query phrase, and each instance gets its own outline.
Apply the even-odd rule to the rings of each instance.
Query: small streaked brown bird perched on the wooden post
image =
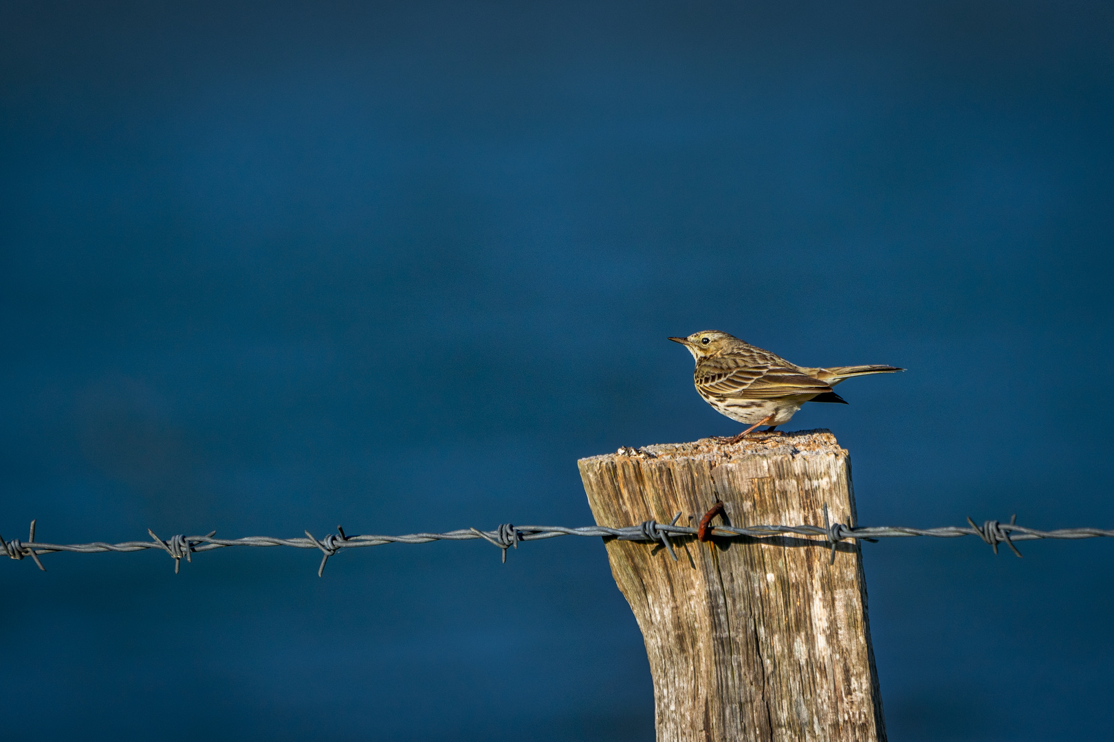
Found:
[[[688,337],[671,337],[696,359],[696,392],[715,412],[750,425],[727,443],[739,443],[759,425],[772,431],[788,423],[805,402],[848,404],[833,386],[852,376],[891,374],[896,366],[833,366],[805,368],[791,364],[737,337],[710,329]]]

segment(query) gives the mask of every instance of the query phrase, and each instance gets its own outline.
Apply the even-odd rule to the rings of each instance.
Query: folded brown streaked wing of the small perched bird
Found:
[[[712,396],[772,399],[794,394],[823,394],[832,388],[768,354],[707,358],[696,367],[696,386]]]

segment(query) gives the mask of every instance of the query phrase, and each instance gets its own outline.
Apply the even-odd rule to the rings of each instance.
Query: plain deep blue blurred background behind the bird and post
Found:
[[[1098,2],[0,4],[0,532],[592,522],[737,432],[666,335],[889,363],[870,525],[1114,525]],[[1110,739],[1114,543],[870,544],[892,740]],[[598,541],[0,564],[0,732],[652,740]]]

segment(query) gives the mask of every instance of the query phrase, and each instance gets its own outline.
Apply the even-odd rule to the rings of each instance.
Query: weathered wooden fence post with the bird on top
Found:
[[[722,499],[724,523],[853,525],[847,451],[828,431],[720,445],[647,446],[654,457],[578,462],[596,523],[695,526]],[[608,540],[654,677],[658,742],[886,740],[857,542]]]

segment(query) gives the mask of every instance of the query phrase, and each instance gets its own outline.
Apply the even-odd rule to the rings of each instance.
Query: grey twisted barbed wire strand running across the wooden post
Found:
[[[636,541],[658,543],[668,551],[674,561],[677,554],[673,548],[672,540],[685,540],[695,537],[698,541],[711,541],[713,538],[759,538],[765,540],[784,534],[795,534],[800,536],[819,536],[822,542],[831,546],[831,558],[829,563],[836,561],[836,545],[841,541],[870,541],[879,538],[902,538],[909,536],[934,536],[936,538],[957,538],[959,536],[978,536],[989,544],[994,553],[998,553],[998,544],[1006,544],[1020,556],[1014,542],[1036,541],[1038,538],[1096,538],[1114,537],[1114,530],[1104,528],[1057,528],[1055,531],[1038,531],[1017,525],[1017,515],[1014,515],[1009,523],[998,521],[984,521],[983,525],[976,525],[970,517],[967,518],[968,526],[944,526],[939,528],[910,528],[906,526],[850,526],[844,523],[829,523],[828,505],[824,505],[824,525],[750,525],[735,527],[729,525],[710,525],[712,517],[723,513],[722,503],[709,511],[701,521],[698,528],[677,525],[681,520],[678,512],[671,523],[658,523],[657,521],[645,521],[638,525],[612,528],[602,525],[580,526],[569,528],[554,525],[512,525],[504,523],[494,531],[479,531],[477,528],[460,528],[446,533],[411,533],[402,536],[384,535],[358,535],[349,536],[344,528],[336,526],[336,533],[330,533],[323,538],[314,537],[309,531],[305,538],[275,538],[273,536],[245,536],[243,538],[216,538],[216,531],[212,531],[204,536],[175,535],[163,541],[148,528],[147,533],[152,541],[126,541],[118,544],[105,542],[92,542],[88,544],[48,544],[35,541],[36,521],[31,521],[30,534],[27,542],[13,538],[4,541],[0,535],[0,555],[7,554],[13,560],[30,557],[40,570],[47,571],[39,561],[43,554],[58,552],[70,552],[76,554],[96,554],[102,552],[141,552],[148,548],[156,548],[166,552],[174,560],[174,573],[177,574],[182,566],[182,560],[192,562],[193,554],[209,552],[215,548],[227,546],[291,546],[293,548],[317,548],[321,551],[321,565],[317,567],[317,576],[322,576],[329,557],[338,554],[343,548],[361,548],[364,546],[381,546],[383,544],[427,544],[433,541],[473,541],[482,538],[488,543],[502,550],[502,562],[507,562],[507,550],[518,548],[518,544],[528,541],[541,541],[544,538],[556,538],[558,536],[590,536],[603,538],[617,538],[619,541]],[[693,518],[690,518],[690,521]]]

